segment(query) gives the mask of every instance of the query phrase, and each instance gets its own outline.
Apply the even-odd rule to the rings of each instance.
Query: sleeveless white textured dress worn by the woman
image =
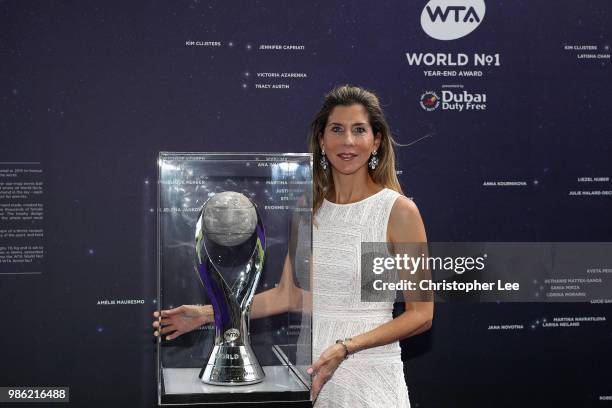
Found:
[[[356,203],[323,201],[313,226],[313,362],[337,339],[393,319],[393,303],[361,302],[361,242],[386,242],[399,193],[383,189]],[[323,386],[315,408],[407,408],[398,342],[360,351]]]

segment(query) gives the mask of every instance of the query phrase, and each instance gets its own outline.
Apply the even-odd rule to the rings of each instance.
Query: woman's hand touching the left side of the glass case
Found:
[[[153,317],[155,317],[153,321],[155,332],[153,332],[153,335],[156,337],[167,335],[166,340],[174,340],[212,322],[214,313],[211,305],[182,305],[174,309],[155,311]]]

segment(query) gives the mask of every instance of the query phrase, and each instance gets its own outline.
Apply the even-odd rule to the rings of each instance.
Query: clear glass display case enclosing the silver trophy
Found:
[[[312,156],[158,164],[158,305],[186,305],[161,321],[159,404],[310,400]]]

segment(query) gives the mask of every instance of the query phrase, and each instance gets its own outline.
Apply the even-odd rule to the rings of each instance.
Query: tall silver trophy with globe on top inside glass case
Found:
[[[240,193],[215,194],[200,210],[195,240],[196,269],[215,313],[215,345],[200,378],[214,385],[258,383],[264,372],[249,342],[265,253],[257,207]]]

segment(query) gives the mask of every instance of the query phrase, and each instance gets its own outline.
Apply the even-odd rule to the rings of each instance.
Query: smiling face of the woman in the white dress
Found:
[[[372,133],[363,105],[336,106],[327,118],[319,145],[335,170],[353,174],[368,165],[370,155],[380,146],[380,138],[380,133]]]

